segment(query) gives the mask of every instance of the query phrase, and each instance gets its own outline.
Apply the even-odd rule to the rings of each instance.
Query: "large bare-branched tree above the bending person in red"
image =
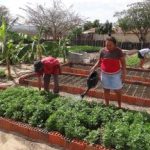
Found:
[[[53,0],[50,7],[38,5],[36,8],[26,5],[23,9],[28,22],[39,29],[46,30],[54,40],[64,37],[68,32],[81,24],[82,19],[72,11],[72,7],[66,8],[61,0]]]

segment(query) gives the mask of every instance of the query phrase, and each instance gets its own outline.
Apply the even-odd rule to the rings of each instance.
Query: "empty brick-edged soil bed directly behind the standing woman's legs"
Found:
[[[73,74],[62,74],[59,76],[60,91],[81,94],[86,89],[86,77],[73,75]],[[24,76],[20,78],[19,83],[26,86],[37,87],[37,79],[31,75]],[[53,81],[51,82],[50,88],[53,87]],[[123,97],[122,101],[129,104],[139,105],[139,106],[150,106],[150,86],[141,84],[131,84],[130,82],[124,83],[123,86]],[[103,98],[103,89],[100,83],[98,86],[89,91],[87,95]],[[116,100],[115,94],[111,93],[111,100]]]

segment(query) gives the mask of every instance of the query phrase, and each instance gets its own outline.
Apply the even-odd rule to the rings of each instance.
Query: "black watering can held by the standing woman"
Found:
[[[81,97],[82,97],[82,98],[87,94],[87,92],[88,92],[91,88],[94,88],[94,87],[97,85],[98,80],[99,80],[99,76],[98,76],[97,71],[92,72],[92,73],[88,76],[88,78],[87,78],[87,89],[86,89],[85,92],[83,92],[83,93],[81,94]]]

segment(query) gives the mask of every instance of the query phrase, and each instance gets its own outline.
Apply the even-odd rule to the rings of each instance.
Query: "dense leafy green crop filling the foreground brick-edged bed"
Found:
[[[117,150],[150,149],[150,115],[75,101],[52,93],[17,87],[0,92],[0,116],[58,131],[69,139]]]

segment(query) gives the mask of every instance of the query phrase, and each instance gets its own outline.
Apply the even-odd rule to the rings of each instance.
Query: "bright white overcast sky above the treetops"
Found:
[[[0,5],[5,5],[13,17],[24,16],[24,12],[20,8],[28,3],[50,5],[53,0],[0,0]],[[93,21],[99,19],[101,23],[109,20],[116,22],[117,18],[113,17],[115,12],[122,11],[127,8],[128,4],[139,2],[142,0],[62,0],[66,7],[73,5],[73,10],[86,20]]]

